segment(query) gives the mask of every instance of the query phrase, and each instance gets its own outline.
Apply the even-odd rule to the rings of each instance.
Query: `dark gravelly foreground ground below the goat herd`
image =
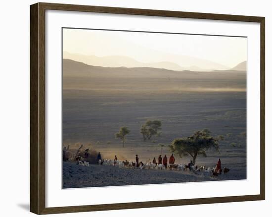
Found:
[[[238,171],[239,170],[239,171]],[[246,179],[243,169],[231,169],[228,174],[212,178],[210,173],[119,168],[111,165],[88,166],[63,162],[63,188],[101,187],[141,184],[163,184],[197,181]]]

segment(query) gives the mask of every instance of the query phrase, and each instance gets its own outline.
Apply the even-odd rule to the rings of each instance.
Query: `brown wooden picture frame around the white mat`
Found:
[[[259,195],[45,208],[45,10],[181,17],[260,23],[261,183]],[[166,207],[265,200],[265,17],[136,8],[36,3],[30,6],[30,211],[35,214]]]

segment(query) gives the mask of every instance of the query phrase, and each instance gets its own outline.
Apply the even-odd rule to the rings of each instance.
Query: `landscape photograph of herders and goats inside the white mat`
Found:
[[[62,188],[247,179],[247,37],[62,28]]]

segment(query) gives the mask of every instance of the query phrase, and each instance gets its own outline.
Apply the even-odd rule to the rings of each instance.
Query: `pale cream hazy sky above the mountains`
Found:
[[[63,51],[95,56],[122,55],[143,63],[171,61],[181,67],[198,66],[197,59],[204,59],[232,68],[247,60],[247,39],[63,29]],[[184,56],[193,60],[186,61]]]

